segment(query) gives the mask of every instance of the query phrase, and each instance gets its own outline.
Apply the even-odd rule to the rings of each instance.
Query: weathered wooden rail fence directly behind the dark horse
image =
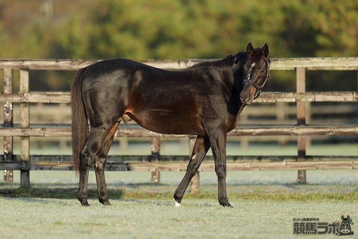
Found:
[[[29,187],[30,170],[71,170],[71,156],[38,156],[29,154],[29,137],[70,137],[68,124],[30,125],[29,103],[69,103],[69,92],[29,92],[29,70],[78,70],[98,60],[0,60],[4,69],[4,93],[0,102],[4,104],[4,125],[0,137],[4,137],[4,156],[0,158],[0,170],[6,170],[5,178],[11,179],[11,170],[20,170],[21,186]],[[143,61],[163,69],[184,69],[203,60]],[[340,58],[274,58],[272,70],[295,70],[296,92],[265,92],[255,102],[296,102],[297,124],[288,125],[239,125],[228,136],[297,136],[297,156],[228,156],[228,170],[298,170],[298,182],[306,182],[306,169],[356,169],[358,157],[307,156],[306,136],[310,135],[358,135],[357,124],[310,125],[306,124],[307,102],[357,102],[357,89],[350,92],[305,92],[306,70],[358,70],[358,57]],[[19,70],[20,90],[12,92],[12,72]],[[271,79],[274,80],[274,79]],[[12,103],[19,103],[20,122],[13,124]],[[125,126],[116,132],[116,137],[152,138],[150,156],[109,156],[107,170],[151,171],[152,181],[159,181],[159,171],[186,170],[189,157],[160,156],[160,138],[189,138],[192,150],[195,136],[163,135],[147,129]],[[13,138],[20,137],[20,155],[12,154]],[[207,157],[209,160],[212,157]],[[200,170],[214,170],[214,163],[204,161]],[[191,189],[196,190],[198,173],[193,178]]]

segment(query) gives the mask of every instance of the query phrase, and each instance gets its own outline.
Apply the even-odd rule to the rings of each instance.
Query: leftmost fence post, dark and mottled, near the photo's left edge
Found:
[[[4,69],[4,94],[12,94],[12,69]],[[12,103],[4,104],[4,127],[13,126]],[[12,137],[4,137],[4,160],[12,161]],[[4,170],[4,180],[12,182],[13,171]]]

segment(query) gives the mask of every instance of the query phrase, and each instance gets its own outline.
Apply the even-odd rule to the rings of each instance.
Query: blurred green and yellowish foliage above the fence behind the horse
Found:
[[[222,58],[251,41],[267,42],[270,57],[356,56],[357,26],[358,1],[350,0],[95,0],[60,19],[29,21],[17,35],[0,25],[0,52],[2,58]],[[278,73],[274,86],[292,90],[287,77]]]

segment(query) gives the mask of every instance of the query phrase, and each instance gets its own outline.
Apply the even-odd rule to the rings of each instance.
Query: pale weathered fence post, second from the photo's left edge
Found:
[[[29,70],[20,69],[20,93],[29,92]],[[20,127],[29,128],[29,103],[20,103]],[[21,161],[30,160],[30,138],[20,137],[20,157]],[[23,188],[30,187],[30,171],[21,170],[20,185]]]

